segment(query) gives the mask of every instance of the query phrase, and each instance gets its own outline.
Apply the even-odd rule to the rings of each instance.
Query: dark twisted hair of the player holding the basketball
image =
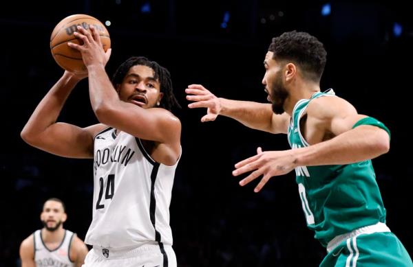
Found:
[[[153,69],[154,77],[160,83],[160,92],[163,93],[162,100],[160,101],[160,107],[171,111],[172,108],[180,108],[178,100],[176,100],[173,94],[171,74],[165,67],[162,67],[158,62],[151,61],[144,56],[132,56],[123,62],[118,69],[116,69],[114,76],[112,77],[112,84],[116,87],[116,84],[121,84],[125,78],[127,72],[131,67],[136,65],[143,65]]]

